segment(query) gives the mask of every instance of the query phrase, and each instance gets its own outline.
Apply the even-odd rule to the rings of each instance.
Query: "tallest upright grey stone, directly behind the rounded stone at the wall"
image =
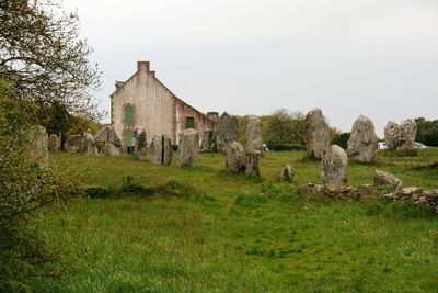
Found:
[[[320,109],[306,115],[304,140],[309,156],[322,158],[330,148],[328,124]]]

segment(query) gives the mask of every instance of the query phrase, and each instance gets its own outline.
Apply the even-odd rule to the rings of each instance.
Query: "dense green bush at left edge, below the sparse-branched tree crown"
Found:
[[[34,212],[80,193],[76,180],[33,159],[36,111],[0,80],[0,292],[25,290],[28,277],[56,274],[57,251],[33,224]]]

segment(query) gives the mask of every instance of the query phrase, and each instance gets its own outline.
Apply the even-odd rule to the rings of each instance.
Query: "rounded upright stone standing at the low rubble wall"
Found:
[[[345,150],[336,145],[330,147],[321,160],[321,178],[325,184],[347,183],[348,157]]]

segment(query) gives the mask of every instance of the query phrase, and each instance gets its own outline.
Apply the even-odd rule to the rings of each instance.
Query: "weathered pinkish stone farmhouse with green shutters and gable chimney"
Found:
[[[111,123],[124,149],[132,145],[137,128],[146,131],[148,143],[155,135],[166,134],[177,145],[183,129],[197,129],[201,137],[204,131],[217,127],[217,112],[204,114],[177,98],[150,70],[149,61],[138,61],[137,71],[115,86],[111,94]]]

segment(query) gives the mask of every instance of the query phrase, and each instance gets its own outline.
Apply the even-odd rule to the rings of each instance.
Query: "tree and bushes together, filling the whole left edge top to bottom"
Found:
[[[55,0],[0,0],[0,292],[53,275],[56,253],[35,226],[35,211],[80,193],[76,180],[30,155],[44,109],[59,115],[53,131],[67,114],[102,114],[90,95],[100,71],[88,63],[91,49],[78,38],[78,25]]]

